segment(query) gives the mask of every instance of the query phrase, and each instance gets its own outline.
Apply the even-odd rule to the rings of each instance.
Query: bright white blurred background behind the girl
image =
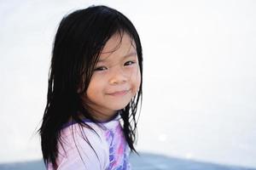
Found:
[[[41,159],[36,133],[61,18],[117,8],[143,43],[137,149],[256,167],[256,1],[0,1],[0,163]]]

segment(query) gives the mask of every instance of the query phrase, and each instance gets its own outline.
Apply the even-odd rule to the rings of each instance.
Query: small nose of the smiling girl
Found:
[[[111,77],[109,78],[109,83],[111,85],[116,85],[116,84],[122,84],[127,82],[128,77],[125,74],[125,71],[122,69],[115,69],[112,71]]]

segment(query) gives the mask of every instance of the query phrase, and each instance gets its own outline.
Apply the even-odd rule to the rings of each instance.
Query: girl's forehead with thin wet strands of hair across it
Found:
[[[112,55],[125,55],[128,53],[136,53],[135,42],[127,33],[120,35],[119,33],[114,34],[109,38],[100,54],[100,60],[107,59]]]

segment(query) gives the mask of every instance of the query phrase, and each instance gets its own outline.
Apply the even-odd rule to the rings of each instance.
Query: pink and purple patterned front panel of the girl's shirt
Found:
[[[105,133],[109,144],[109,167],[108,170],[130,170],[128,144],[125,141],[121,125],[110,129]]]

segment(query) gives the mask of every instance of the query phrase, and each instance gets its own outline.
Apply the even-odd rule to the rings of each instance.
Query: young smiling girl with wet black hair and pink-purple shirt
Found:
[[[131,169],[142,73],[140,38],[124,14],[92,6],[61,20],[39,129],[48,169]]]

